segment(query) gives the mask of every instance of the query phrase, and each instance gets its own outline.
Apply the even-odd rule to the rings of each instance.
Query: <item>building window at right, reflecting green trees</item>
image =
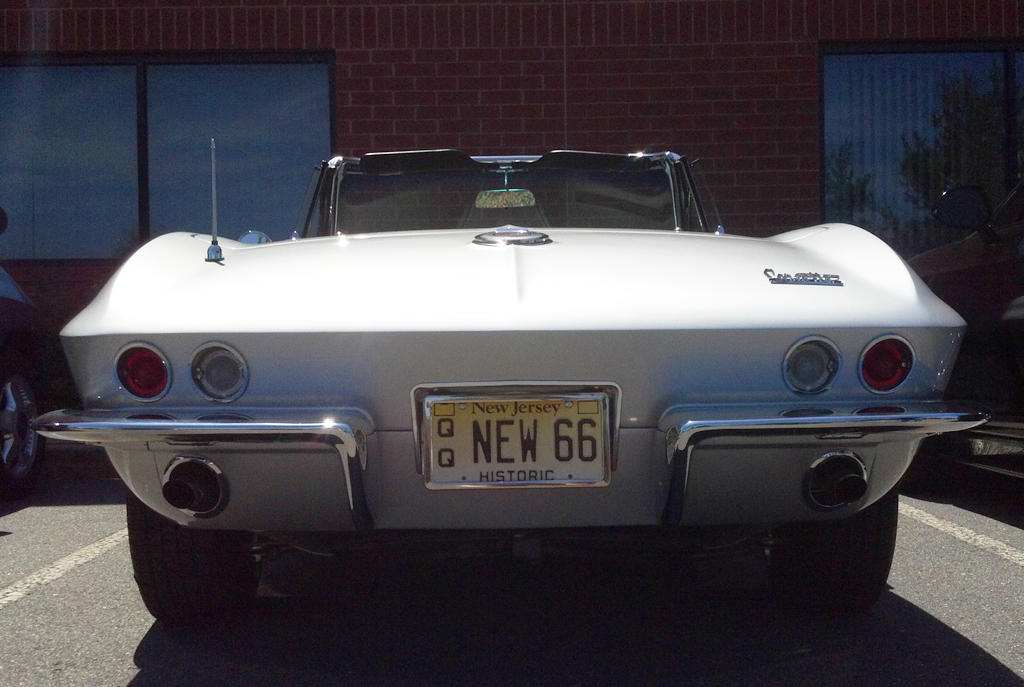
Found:
[[[955,185],[982,186],[995,204],[1015,183],[1015,59],[1004,50],[824,54],[825,220],[864,226],[905,257],[962,238],[935,224],[931,208]]]

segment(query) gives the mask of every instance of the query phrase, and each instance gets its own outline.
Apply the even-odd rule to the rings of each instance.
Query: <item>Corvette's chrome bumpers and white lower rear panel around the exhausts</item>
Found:
[[[674,406],[658,426],[620,428],[617,466],[601,488],[432,491],[411,430],[375,431],[358,410],[58,411],[45,436],[102,445],[144,503],[198,527],[289,530],[517,528],[780,523],[842,517],[895,486],[926,436],[970,429],[984,411],[941,401],[885,407]],[[808,475],[852,456],[866,490],[836,509],[809,507]],[[182,461],[223,472],[231,505],[204,519],[174,508]],[[853,465],[851,461],[848,464]]]

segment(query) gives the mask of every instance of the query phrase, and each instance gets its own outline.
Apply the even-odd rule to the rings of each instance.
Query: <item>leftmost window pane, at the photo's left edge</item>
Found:
[[[0,68],[0,257],[105,258],[138,244],[135,70]]]

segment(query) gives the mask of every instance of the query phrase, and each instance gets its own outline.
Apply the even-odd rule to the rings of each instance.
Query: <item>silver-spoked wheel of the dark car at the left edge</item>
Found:
[[[38,397],[33,373],[13,353],[0,363],[0,501],[29,496],[42,470],[43,437],[31,427]]]

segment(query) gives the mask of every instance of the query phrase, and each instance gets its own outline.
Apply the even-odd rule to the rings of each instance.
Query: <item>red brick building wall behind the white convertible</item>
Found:
[[[728,230],[819,215],[823,40],[1016,38],[1014,0],[48,0],[0,54],[333,50],[337,153],[671,148]]]

